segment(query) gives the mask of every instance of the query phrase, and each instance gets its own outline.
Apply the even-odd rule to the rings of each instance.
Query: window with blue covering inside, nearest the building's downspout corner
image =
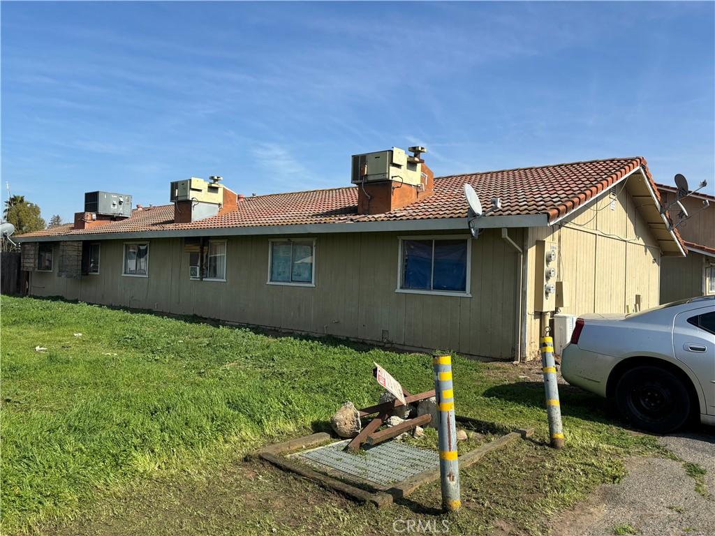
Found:
[[[400,239],[398,292],[468,295],[469,244],[465,237]]]

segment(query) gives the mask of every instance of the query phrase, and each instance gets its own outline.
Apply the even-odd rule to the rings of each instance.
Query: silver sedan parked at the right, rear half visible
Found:
[[[672,432],[698,414],[715,425],[715,297],[584,315],[563,349],[561,374],[643,430]]]

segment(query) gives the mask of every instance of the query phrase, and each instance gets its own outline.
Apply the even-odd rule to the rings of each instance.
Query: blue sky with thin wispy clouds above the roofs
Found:
[[[2,187],[165,204],[350,184],[350,155],[436,174],[642,155],[715,180],[715,4],[1,4]]]

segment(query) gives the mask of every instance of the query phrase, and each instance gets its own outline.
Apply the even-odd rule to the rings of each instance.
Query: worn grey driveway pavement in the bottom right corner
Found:
[[[559,515],[553,535],[715,535],[715,428],[659,442],[678,460],[634,458],[622,482]]]

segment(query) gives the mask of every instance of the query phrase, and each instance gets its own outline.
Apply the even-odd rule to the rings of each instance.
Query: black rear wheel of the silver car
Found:
[[[667,434],[685,424],[690,397],[679,377],[660,367],[628,370],[616,386],[621,415],[637,428]]]

